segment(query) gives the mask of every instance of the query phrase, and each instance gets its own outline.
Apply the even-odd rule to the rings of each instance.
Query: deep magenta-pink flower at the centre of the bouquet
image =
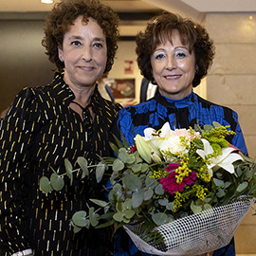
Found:
[[[170,174],[166,177],[159,179],[159,182],[162,184],[165,192],[170,192],[171,194],[174,194],[174,192],[177,192],[177,191],[183,192],[186,185],[190,186],[192,184],[195,184],[195,180],[196,180],[195,172],[192,172],[189,174],[189,176],[184,177],[180,184],[176,182],[176,178],[175,178],[176,173],[174,170],[177,169],[178,166],[179,164],[177,163],[169,164],[169,168],[165,168],[165,170],[169,171]]]

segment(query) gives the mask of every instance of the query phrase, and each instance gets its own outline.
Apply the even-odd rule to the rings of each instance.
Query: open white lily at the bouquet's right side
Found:
[[[204,150],[198,149],[196,153],[205,159],[206,156],[212,154],[214,151],[210,146],[210,142],[207,139],[202,138],[202,142],[204,144]],[[209,159],[210,163],[207,164],[209,170],[212,169],[214,166],[219,166],[228,171],[230,174],[234,174],[234,166],[232,165],[232,163],[237,160],[243,160],[243,157],[237,153],[232,153],[233,151],[235,151],[234,148],[224,148],[222,149],[221,155],[211,157]]]

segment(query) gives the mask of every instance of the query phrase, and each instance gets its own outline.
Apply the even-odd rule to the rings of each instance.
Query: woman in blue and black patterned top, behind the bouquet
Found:
[[[137,35],[137,64],[158,90],[153,99],[119,111],[118,126],[130,145],[137,134],[144,136],[145,128],[157,131],[167,121],[173,130],[217,121],[230,126],[235,135],[227,139],[247,155],[237,114],[202,99],[192,90],[207,75],[213,56],[214,46],[207,30],[192,20],[164,12],[148,23],[145,31]],[[122,234],[117,236],[114,255],[145,254]],[[213,255],[235,255],[233,241]]]

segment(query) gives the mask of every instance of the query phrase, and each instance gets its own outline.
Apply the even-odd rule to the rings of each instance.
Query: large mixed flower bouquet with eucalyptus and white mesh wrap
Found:
[[[233,132],[216,122],[174,131],[165,123],[144,134],[132,147],[117,139],[117,158],[100,157],[98,182],[107,168],[113,170],[108,200],[92,198],[98,209],[76,212],[75,231],[117,223],[140,250],[156,255],[197,255],[227,246],[254,202],[254,160],[231,146],[226,137]],[[91,166],[82,157],[77,162],[86,177]],[[67,159],[65,167],[72,180],[77,170]],[[52,175],[40,180],[44,192],[64,186],[63,176]]]

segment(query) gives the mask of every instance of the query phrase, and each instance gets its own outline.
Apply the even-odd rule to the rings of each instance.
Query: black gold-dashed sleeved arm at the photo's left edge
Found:
[[[28,148],[37,126],[32,119],[38,115],[32,99],[31,90],[21,91],[13,101],[1,130],[1,255],[10,255],[30,248],[27,242],[27,205],[25,202],[29,186],[26,181],[29,170]]]

